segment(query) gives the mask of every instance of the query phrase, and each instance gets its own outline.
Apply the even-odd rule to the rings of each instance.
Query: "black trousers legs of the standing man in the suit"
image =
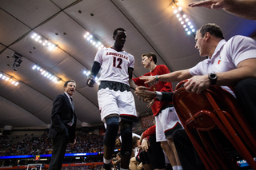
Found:
[[[64,132],[60,132],[53,138],[53,152],[48,170],[60,170],[62,168],[62,161],[66,152],[66,144],[69,141],[69,136]]]

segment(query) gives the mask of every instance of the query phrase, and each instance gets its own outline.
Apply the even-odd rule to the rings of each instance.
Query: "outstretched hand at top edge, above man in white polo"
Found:
[[[225,0],[206,0],[206,1],[198,1],[192,2],[188,6],[190,7],[205,7],[213,10],[220,10],[224,8],[226,5]]]

